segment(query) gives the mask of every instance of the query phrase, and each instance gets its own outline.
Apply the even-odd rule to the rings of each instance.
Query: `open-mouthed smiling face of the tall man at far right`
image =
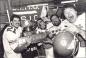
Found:
[[[69,22],[74,23],[77,18],[77,11],[74,8],[65,8],[64,16]]]

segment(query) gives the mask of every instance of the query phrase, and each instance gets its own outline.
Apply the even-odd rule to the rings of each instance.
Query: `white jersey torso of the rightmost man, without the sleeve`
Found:
[[[81,15],[78,16],[76,22],[74,23],[74,25],[76,25],[77,27],[79,27],[82,30],[85,30],[85,26],[86,26],[85,16],[86,16],[85,13],[82,13]],[[85,49],[86,49],[86,47],[80,47],[80,44],[79,44],[79,51],[75,58],[86,58],[86,53],[85,53],[86,50]]]

